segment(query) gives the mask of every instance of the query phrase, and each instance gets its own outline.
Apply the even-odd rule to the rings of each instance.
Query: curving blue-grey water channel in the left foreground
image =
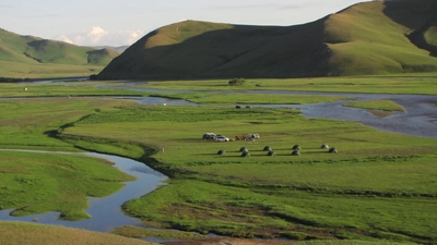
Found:
[[[47,154],[50,151],[33,151],[29,152]],[[50,152],[59,154],[59,152]],[[60,152],[69,154],[69,152]],[[59,220],[59,212],[46,212],[25,217],[12,217],[10,212],[13,209],[1,210],[0,220],[3,221],[23,221],[36,222],[44,224],[63,225],[69,228],[85,229],[97,232],[110,232],[117,226],[135,225],[143,226],[141,220],[123,215],[121,205],[127,200],[141,197],[160,185],[164,185],[163,181],[167,179],[164,174],[154,171],[142,162],[128,158],[116,157],[104,154],[84,152],[78,155],[86,155],[91,157],[103,158],[115,163],[120,171],[137,177],[135,181],[125,182],[126,186],[119,192],[103,198],[88,198],[90,207],[85,212],[92,216],[91,219],[81,221]]]

